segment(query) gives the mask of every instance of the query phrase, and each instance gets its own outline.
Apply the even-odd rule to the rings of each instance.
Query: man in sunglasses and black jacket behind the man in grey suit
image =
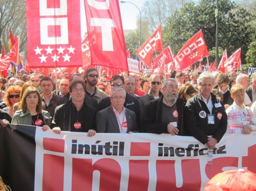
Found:
[[[111,88],[112,90],[117,87],[124,87],[124,77],[121,75],[113,75],[113,77],[110,80],[111,83]],[[99,103],[99,111],[103,110],[111,105],[111,99],[110,97],[104,98],[100,101]],[[137,125],[139,126],[140,119],[141,119],[141,106],[139,105],[139,101],[137,98],[133,97],[130,94],[126,94],[125,97],[125,102],[124,102],[124,107],[126,109],[129,109],[136,114],[136,119],[137,119]]]

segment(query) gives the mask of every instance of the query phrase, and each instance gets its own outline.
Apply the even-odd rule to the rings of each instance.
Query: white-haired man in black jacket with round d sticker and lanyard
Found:
[[[188,99],[185,106],[185,129],[209,149],[215,149],[227,130],[227,113],[221,100],[211,93],[214,76],[203,72],[197,82],[199,93]],[[212,136],[212,137],[208,137]]]

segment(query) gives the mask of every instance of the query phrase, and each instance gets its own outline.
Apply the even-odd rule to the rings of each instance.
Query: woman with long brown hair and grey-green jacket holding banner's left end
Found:
[[[23,93],[12,124],[42,126],[42,130],[50,129],[51,116],[47,111],[42,110],[42,98],[39,91],[34,86],[28,86]]]

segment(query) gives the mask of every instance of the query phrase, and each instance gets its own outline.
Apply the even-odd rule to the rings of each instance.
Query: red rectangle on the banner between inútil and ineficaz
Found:
[[[150,156],[150,143],[131,142],[131,156]]]

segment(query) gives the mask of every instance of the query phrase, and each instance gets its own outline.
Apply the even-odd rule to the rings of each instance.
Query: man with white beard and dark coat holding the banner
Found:
[[[184,135],[184,100],[178,98],[178,83],[174,78],[163,80],[162,95],[149,102],[143,116],[143,131]]]

